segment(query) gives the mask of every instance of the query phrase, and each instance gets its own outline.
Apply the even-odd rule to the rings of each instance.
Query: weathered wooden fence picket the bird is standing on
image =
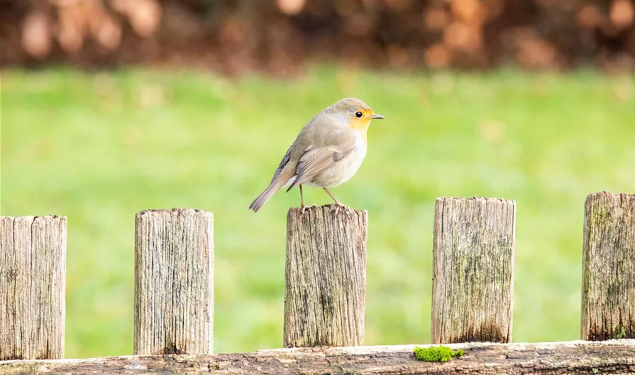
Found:
[[[363,344],[367,223],[348,207],[289,210],[285,347]]]

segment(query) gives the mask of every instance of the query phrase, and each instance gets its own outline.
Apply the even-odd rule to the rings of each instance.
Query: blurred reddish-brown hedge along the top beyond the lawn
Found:
[[[632,0],[0,1],[1,64],[635,67]]]

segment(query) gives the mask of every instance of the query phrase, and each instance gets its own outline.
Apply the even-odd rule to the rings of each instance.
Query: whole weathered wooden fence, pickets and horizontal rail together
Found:
[[[466,351],[446,364],[414,359],[412,346],[362,346],[367,221],[365,211],[290,209],[281,342],[293,349],[211,355],[213,215],[191,209],[139,212],[138,355],[55,361],[63,358],[66,218],[1,217],[0,374],[635,371],[635,195],[597,192],[587,197],[581,295],[581,337],[587,341],[551,344],[511,343],[516,204],[498,198],[439,198],[432,342]]]

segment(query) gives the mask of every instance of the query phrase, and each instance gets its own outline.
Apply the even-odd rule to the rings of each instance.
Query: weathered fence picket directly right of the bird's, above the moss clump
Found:
[[[511,342],[516,204],[438,198],[432,342]]]

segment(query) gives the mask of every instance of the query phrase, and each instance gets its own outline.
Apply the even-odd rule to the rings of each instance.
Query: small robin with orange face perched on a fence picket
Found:
[[[275,192],[287,186],[288,192],[296,185],[303,212],[307,205],[302,185],[323,188],[337,207],[344,207],[328,188],[346,183],[355,175],[366,156],[368,126],[372,120],[383,118],[355,98],[326,107],[300,130],[269,186],[251,203],[250,210],[258,212]]]

